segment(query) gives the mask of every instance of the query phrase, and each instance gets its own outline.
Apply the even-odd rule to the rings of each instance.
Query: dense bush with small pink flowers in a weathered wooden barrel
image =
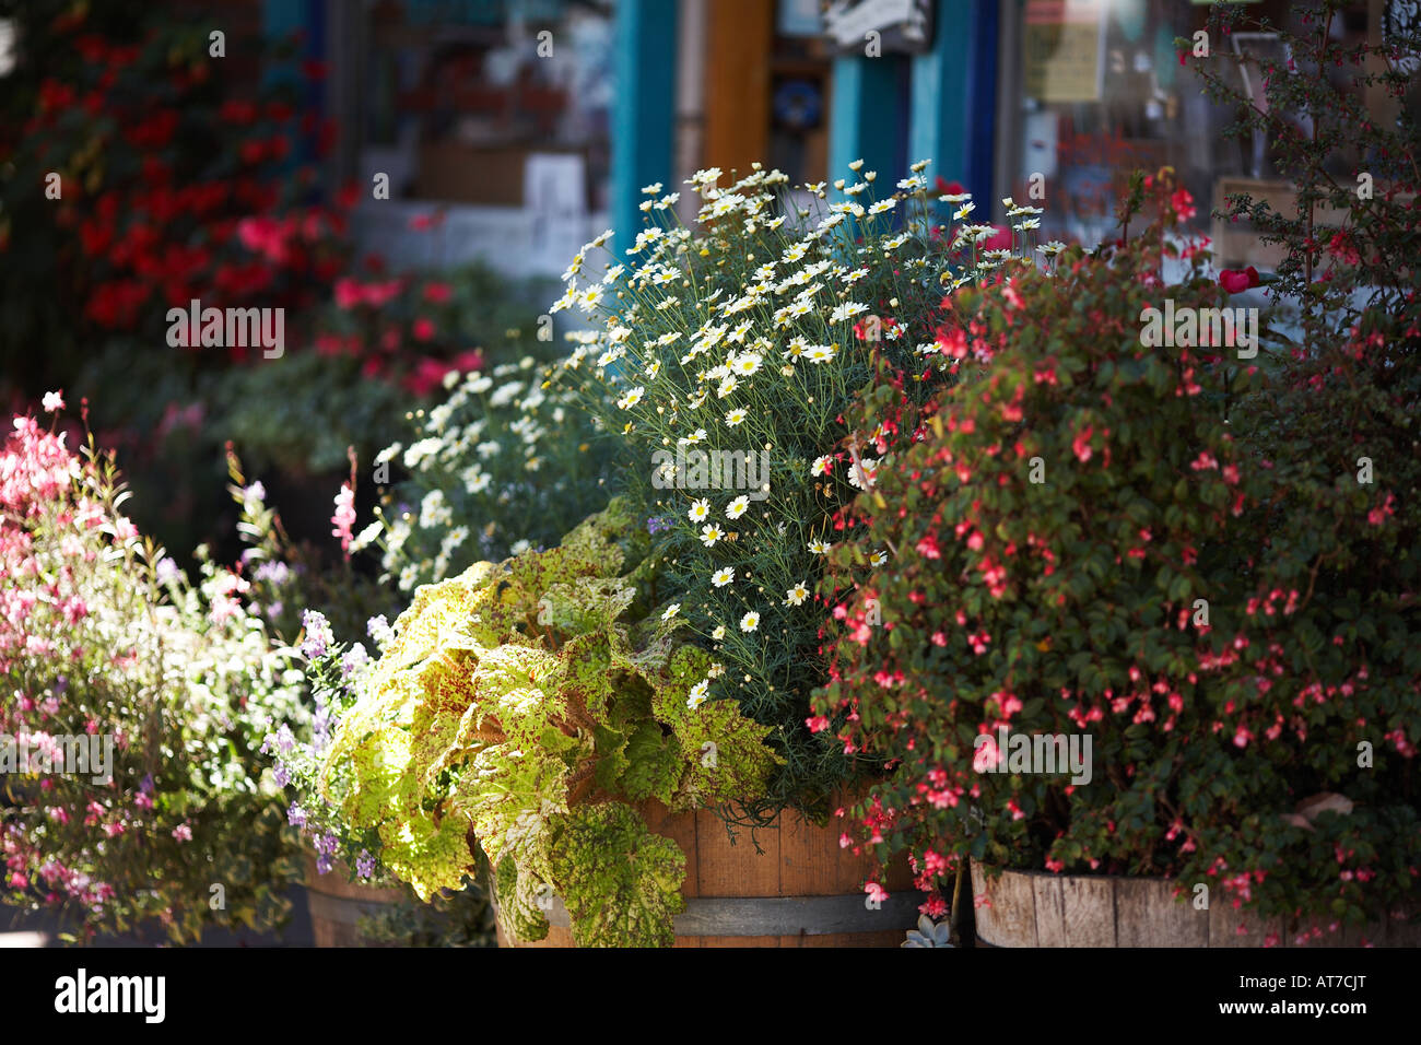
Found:
[[[971,860],[995,944],[1414,943],[1414,328],[1269,351],[1174,237],[1187,193],[1135,185],[1140,237],[958,294],[958,387],[865,397],[898,438],[816,707],[898,769],[854,837],[924,884]]]

